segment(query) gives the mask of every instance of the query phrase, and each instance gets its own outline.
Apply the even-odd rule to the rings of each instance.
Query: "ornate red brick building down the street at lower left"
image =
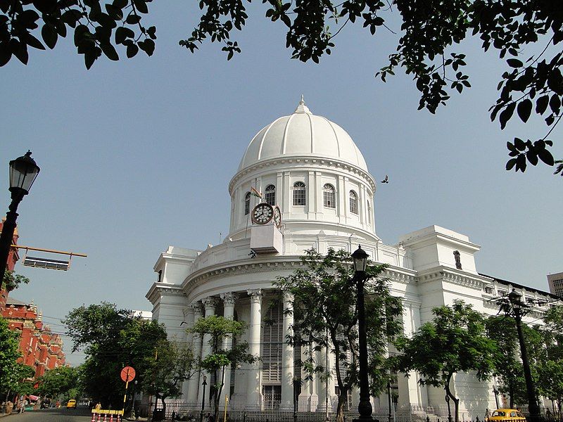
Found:
[[[8,327],[20,333],[20,351],[23,356],[18,362],[32,366],[36,378],[46,370],[65,364],[61,335],[52,333],[51,328],[43,324],[42,314],[37,312],[37,306],[8,298],[1,314],[8,320]]]

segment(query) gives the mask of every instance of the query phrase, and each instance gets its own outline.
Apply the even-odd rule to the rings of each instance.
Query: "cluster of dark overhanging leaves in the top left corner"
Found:
[[[27,64],[28,46],[54,49],[58,37],[66,37],[69,28],[88,69],[102,54],[119,60],[114,44],[127,46],[127,57],[139,48],[151,56],[156,27],[146,30],[141,22],[151,1],[0,0],[0,66],[14,56]]]

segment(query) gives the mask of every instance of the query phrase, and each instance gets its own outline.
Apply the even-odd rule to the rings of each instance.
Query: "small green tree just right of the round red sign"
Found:
[[[196,359],[189,347],[169,340],[159,340],[156,352],[145,357],[146,368],[141,374],[141,389],[162,401],[166,413],[166,397],[177,397],[182,393],[183,381],[196,373]]]

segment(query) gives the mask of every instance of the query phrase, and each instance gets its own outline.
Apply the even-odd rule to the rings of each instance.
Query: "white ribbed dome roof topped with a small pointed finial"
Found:
[[[338,124],[312,114],[303,96],[292,115],[279,117],[254,136],[239,171],[260,161],[296,155],[333,158],[367,172],[364,157],[350,135]]]

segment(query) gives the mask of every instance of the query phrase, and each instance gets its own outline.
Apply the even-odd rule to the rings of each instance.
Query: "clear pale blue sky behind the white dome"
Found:
[[[101,58],[86,70],[70,37],[30,51],[27,66],[14,59],[0,68],[0,212],[10,200],[8,161],[30,149],[41,172],[18,209],[19,243],[88,255],[73,257],[69,271],[15,268],[31,282],[11,297],[33,300],[54,332],[64,333],[61,319],[82,304],[151,310],[145,294],[159,254],[227,235],[227,185],[246,146],[301,94],[312,113],[346,129],[375,179],[388,174],[374,203],[382,241],[436,224],[481,245],[483,274],[548,290],[546,274],[563,271],[563,178],[541,165],[505,171],[507,141],[548,129],[533,117],[502,131],[491,122],[506,70],[494,51],[476,41],[452,50],[467,54],[472,88],[432,115],[417,111],[418,91],[400,70],[386,83],[374,77],[395,51],[398,35],[387,30],[372,37],[348,25],[331,56],[301,63],[285,48],[284,26],[251,4],[234,34],[242,53],[227,61],[218,44],[195,54],[178,45],[197,23],[195,2],[150,6],[151,58],[118,50],[119,62]],[[396,13],[389,26],[398,32]],[[556,158],[561,134],[552,132]],[[80,364],[84,354],[63,341],[68,362]]]

